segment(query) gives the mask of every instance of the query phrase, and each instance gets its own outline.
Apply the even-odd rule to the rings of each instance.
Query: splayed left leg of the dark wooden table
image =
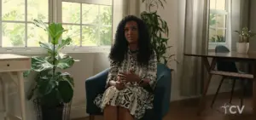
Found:
[[[211,66],[210,66],[210,64],[207,60],[207,57],[203,57],[202,60],[203,60],[204,65],[207,68],[208,77],[207,77],[207,80],[204,83],[203,94],[201,96],[201,100],[200,100],[200,104],[199,104],[199,109],[197,111],[197,115],[201,115],[201,111],[203,111],[205,106],[206,106],[205,105],[206,104],[205,99],[206,99],[207,91],[208,91],[208,88],[209,88],[209,85],[210,85],[211,79],[212,79],[212,74],[210,73],[210,71],[213,70],[214,67],[216,66],[216,59],[215,58],[212,59]]]

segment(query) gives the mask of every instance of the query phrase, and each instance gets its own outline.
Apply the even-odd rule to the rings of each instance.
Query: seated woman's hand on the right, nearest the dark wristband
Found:
[[[118,76],[125,79],[125,82],[139,82],[141,80],[141,78],[134,74],[134,72],[131,70],[127,73],[119,72]]]

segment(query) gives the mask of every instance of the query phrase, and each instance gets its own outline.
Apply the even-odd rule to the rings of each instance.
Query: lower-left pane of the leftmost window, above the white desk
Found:
[[[2,24],[3,47],[24,47],[25,24],[3,23]]]

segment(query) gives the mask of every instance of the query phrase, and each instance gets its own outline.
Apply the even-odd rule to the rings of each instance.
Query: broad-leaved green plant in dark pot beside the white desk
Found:
[[[47,51],[46,56],[32,56],[31,71],[37,72],[33,87],[27,99],[38,100],[43,120],[62,120],[64,104],[73,99],[73,77],[67,72],[61,72],[73,66],[74,60],[68,54],[62,54],[61,49],[71,43],[67,37],[60,41],[64,31],[60,23],[50,23],[49,26],[41,20],[34,20],[34,25],[44,29],[49,34],[50,43],[39,42],[40,47]],[[30,71],[27,71],[25,77]],[[35,95],[34,95],[35,94]]]

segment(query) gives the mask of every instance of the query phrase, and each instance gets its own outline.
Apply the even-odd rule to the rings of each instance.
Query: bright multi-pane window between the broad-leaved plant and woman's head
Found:
[[[105,46],[112,43],[112,7],[108,3],[62,2],[62,23],[72,46]]]

